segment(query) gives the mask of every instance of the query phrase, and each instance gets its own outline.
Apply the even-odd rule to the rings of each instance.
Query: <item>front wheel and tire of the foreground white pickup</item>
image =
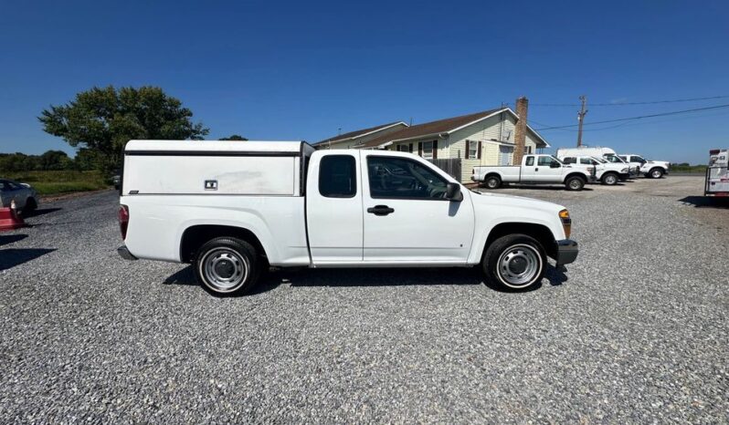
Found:
[[[546,264],[542,244],[520,233],[493,241],[481,260],[486,278],[506,290],[523,290],[539,284]]]

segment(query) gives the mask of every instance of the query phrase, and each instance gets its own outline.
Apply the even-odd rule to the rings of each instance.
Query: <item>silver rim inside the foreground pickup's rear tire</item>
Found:
[[[235,291],[246,282],[249,264],[243,256],[228,248],[216,248],[200,262],[206,284],[217,292]]]

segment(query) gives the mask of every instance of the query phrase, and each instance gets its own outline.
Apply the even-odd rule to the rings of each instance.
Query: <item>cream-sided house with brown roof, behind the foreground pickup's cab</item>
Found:
[[[356,132],[348,133],[343,135],[347,136],[346,143],[332,142],[331,148],[401,150],[417,153],[428,160],[458,160],[460,181],[470,182],[470,170],[474,166],[512,165],[516,141],[520,137],[518,121],[519,117],[512,109],[498,108],[414,126],[398,122],[388,124],[397,125],[379,134],[361,130],[365,131],[366,139],[350,136]],[[529,125],[524,128],[523,153],[549,147],[549,143]],[[328,140],[322,140],[316,147],[327,149],[327,143]]]

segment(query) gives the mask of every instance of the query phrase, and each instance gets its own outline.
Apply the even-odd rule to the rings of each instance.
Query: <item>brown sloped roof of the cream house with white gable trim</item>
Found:
[[[423,124],[417,124],[415,126],[407,127],[403,130],[393,131],[382,136],[376,137],[373,140],[366,141],[361,145],[357,145],[356,148],[377,148],[380,146],[386,146],[396,141],[420,139],[428,136],[439,137],[441,134],[449,134],[453,131],[463,129],[473,125],[483,119],[490,118],[496,114],[508,112],[511,113],[514,118],[519,118],[516,113],[510,108],[497,108],[483,110],[468,115],[460,115],[459,117],[438,119],[437,121],[430,121]],[[527,130],[531,131],[536,139],[541,140],[545,147],[549,147],[549,143],[544,140],[534,129],[529,127],[527,124]]]

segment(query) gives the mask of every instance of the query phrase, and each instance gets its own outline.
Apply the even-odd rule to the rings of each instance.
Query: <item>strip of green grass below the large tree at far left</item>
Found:
[[[111,187],[99,171],[22,171],[0,174],[8,179],[30,184],[43,196],[99,191]]]

